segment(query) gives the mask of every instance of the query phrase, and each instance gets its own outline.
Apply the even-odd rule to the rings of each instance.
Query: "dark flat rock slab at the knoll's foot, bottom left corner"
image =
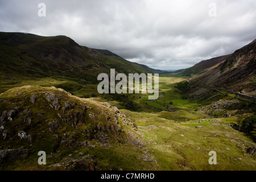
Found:
[[[0,151],[0,164],[11,162],[18,159],[24,159],[28,155],[28,150],[23,149],[10,149],[10,150],[1,150]]]

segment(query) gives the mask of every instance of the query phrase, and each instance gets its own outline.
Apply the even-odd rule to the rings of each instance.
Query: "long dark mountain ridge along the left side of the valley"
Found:
[[[99,73],[156,73],[108,50],[80,46],[67,36],[0,32],[0,76],[66,77],[96,83]]]

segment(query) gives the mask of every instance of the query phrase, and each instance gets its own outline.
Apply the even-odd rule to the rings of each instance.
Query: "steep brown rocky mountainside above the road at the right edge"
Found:
[[[217,59],[220,64],[190,81],[256,96],[256,39],[232,55],[220,58],[224,61]]]

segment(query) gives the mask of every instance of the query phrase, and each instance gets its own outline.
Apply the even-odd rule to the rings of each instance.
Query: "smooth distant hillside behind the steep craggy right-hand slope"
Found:
[[[219,56],[219,57],[213,57],[212,59],[200,61],[200,63],[197,63],[193,65],[193,67],[180,70],[180,73],[178,75],[180,76],[194,76],[199,73],[203,73],[208,71],[210,68],[216,66],[219,63],[222,63],[225,61],[230,55],[225,55],[225,56]]]

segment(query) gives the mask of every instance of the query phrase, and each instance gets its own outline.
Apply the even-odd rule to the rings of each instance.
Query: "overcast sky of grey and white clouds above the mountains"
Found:
[[[66,35],[151,68],[179,69],[256,39],[256,1],[0,0],[0,31]]]

